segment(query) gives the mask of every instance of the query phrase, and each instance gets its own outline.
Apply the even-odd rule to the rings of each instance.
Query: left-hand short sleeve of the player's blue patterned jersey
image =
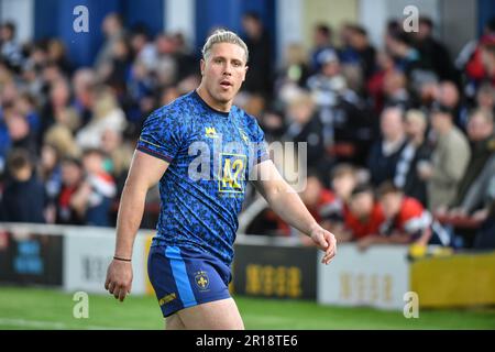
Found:
[[[180,150],[183,134],[177,118],[158,109],[145,120],[136,150],[170,163]]]

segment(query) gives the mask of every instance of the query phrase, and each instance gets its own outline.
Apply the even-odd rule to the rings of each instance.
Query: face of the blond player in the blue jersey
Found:
[[[221,103],[232,101],[245,79],[244,50],[231,43],[217,43],[201,61],[202,81],[208,94]]]

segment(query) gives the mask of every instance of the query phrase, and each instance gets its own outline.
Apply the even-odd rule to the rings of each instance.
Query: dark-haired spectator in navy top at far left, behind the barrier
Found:
[[[12,150],[7,167],[11,176],[0,202],[0,218],[6,222],[45,222],[45,189],[35,176],[34,163],[25,150]]]

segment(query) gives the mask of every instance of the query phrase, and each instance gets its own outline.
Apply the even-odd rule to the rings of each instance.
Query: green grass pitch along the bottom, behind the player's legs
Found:
[[[402,311],[319,306],[311,301],[235,297],[246,329],[495,329],[495,309]],[[154,297],[89,295],[89,318],[76,319],[72,293],[0,286],[0,329],[163,329]]]

